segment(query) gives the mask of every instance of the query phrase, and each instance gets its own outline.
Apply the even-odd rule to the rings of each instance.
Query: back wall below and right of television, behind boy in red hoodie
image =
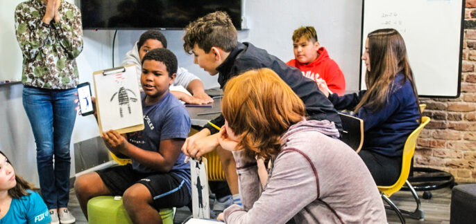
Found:
[[[272,2],[272,4],[270,4]],[[238,31],[239,41],[249,41],[268,50],[284,62],[294,58],[291,36],[299,26],[314,26],[322,46],[341,67],[348,90],[358,90],[362,0],[244,0],[247,30]],[[119,57],[145,30],[119,30]],[[179,65],[200,77],[206,88],[218,86],[212,77],[193,63],[183,50],[183,31],[164,30],[168,48],[178,57]]]

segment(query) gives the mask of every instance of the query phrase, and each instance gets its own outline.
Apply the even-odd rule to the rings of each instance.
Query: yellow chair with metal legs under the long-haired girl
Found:
[[[403,147],[402,171],[400,172],[400,177],[398,178],[397,182],[391,186],[377,186],[378,190],[382,194],[382,199],[390,205],[386,207],[393,209],[397,213],[398,218],[400,218],[400,221],[402,223],[405,223],[405,218],[403,218],[402,213],[409,214],[411,218],[416,218],[420,220],[423,220],[423,218],[425,218],[425,213],[423,212],[423,210],[420,209],[420,198],[418,198],[415,189],[407,180],[410,173],[411,160],[415,152],[416,140],[418,139],[418,136],[420,136],[420,132],[421,130],[423,130],[423,127],[425,127],[425,125],[430,122],[430,118],[426,116],[422,117],[421,120],[422,121],[420,123],[420,126],[418,126],[418,128],[416,128],[415,131],[413,131],[410,136],[408,136],[407,141],[405,142],[405,146]],[[416,209],[413,212],[398,209],[398,207],[393,204],[393,202],[389,198],[393,193],[400,191],[402,186],[405,184],[409,187],[411,194],[413,194],[416,200]]]

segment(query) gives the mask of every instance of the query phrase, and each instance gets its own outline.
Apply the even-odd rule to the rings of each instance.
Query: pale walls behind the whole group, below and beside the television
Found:
[[[22,0],[0,1],[0,30],[7,30],[9,37],[0,34],[0,61],[14,71],[21,72],[21,53],[14,38],[12,7]],[[68,0],[73,2],[72,0]],[[292,32],[299,26],[314,26],[321,45],[328,48],[346,76],[347,89],[358,89],[361,0],[301,0],[265,1],[244,0],[244,16],[248,30],[239,31],[239,41],[250,41],[268,50],[287,62],[292,53]],[[12,6],[10,8],[5,6]],[[116,41],[116,62],[119,65],[144,30],[120,30]],[[92,83],[92,73],[112,67],[113,31],[84,31],[85,46],[78,57],[80,82]],[[13,37],[12,37],[13,35]],[[205,87],[218,86],[217,77],[205,73],[193,64],[193,57],[182,47],[182,30],[166,30],[164,35],[169,49],[176,53],[180,66],[201,77]],[[8,48],[6,48],[8,46]],[[17,56],[13,57],[12,55]],[[9,77],[0,70],[0,80]],[[21,77],[21,75],[19,75]],[[99,136],[96,121],[92,116],[78,117],[71,140],[72,144]],[[0,150],[6,152],[15,163],[17,172],[27,180],[38,183],[35,160],[35,140],[28,118],[22,106],[22,85],[0,86]],[[74,159],[71,160],[71,176],[74,174]]]

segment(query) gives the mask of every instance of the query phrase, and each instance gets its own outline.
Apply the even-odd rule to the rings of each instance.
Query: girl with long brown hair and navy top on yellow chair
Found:
[[[368,34],[362,60],[367,67],[366,91],[329,95],[335,108],[355,112],[364,120],[364,145],[359,156],[377,185],[393,185],[402,169],[402,152],[408,136],[420,124],[418,94],[402,36],[394,29]]]

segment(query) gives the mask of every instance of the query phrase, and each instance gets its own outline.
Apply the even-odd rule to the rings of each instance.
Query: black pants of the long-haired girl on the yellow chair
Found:
[[[359,156],[364,160],[373,180],[379,186],[390,186],[396,183],[402,170],[402,156],[389,157],[362,149]]]

